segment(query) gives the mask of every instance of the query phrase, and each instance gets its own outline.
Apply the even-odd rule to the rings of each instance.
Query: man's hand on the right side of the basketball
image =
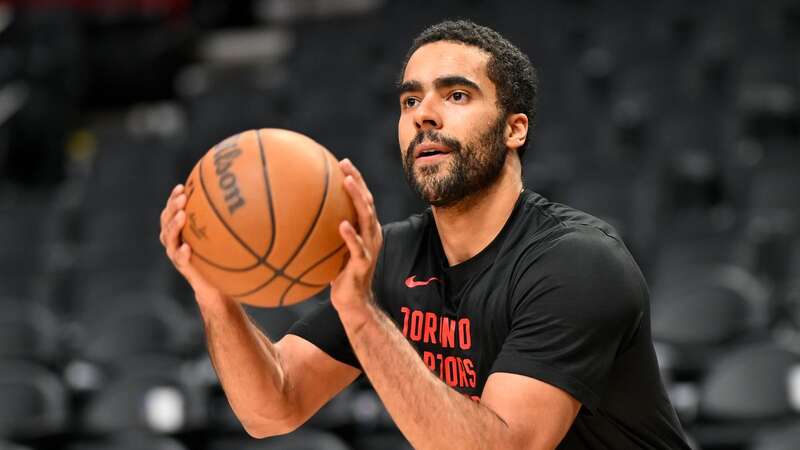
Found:
[[[350,259],[331,283],[331,303],[343,322],[352,321],[357,328],[358,323],[365,320],[366,306],[372,300],[372,274],[383,245],[383,234],[372,193],[361,173],[348,159],[340,161],[339,167],[345,174],[344,187],[353,200],[358,224],[346,220],[339,224],[339,234],[350,251]]]

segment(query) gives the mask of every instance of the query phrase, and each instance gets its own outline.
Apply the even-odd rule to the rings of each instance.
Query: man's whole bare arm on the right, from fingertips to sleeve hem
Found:
[[[360,231],[347,222],[340,226],[350,261],[334,281],[331,299],[367,377],[406,438],[420,449],[554,448],[580,409],[577,400],[530,377],[495,373],[481,402],[473,402],[435,377],[374,304],[380,225],[358,171],[349,161],[342,169]]]

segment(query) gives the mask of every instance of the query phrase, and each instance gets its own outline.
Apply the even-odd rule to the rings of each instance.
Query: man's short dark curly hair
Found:
[[[530,59],[500,33],[469,20],[446,20],[424,29],[411,44],[400,71],[400,82],[408,60],[425,44],[454,41],[478,47],[489,53],[486,72],[497,90],[497,103],[503,116],[524,113],[528,116],[528,135],[517,150],[520,159],[536,123],[536,97],[539,79]]]

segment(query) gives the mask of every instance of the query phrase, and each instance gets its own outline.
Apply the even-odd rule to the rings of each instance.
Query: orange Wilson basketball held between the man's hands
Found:
[[[211,148],[186,181],[181,237],[221,292],[254,306],[306,300],[347,261],[356,223],[336,158],[288,130],[249,130]]]

